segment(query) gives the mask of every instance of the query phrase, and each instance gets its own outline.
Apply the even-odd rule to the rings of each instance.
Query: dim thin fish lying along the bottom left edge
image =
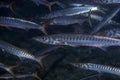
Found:
[[[16,77],[14,79],[21,79],[21,78],[27,78],[27,77],[34,77],[38,80],[42,80],[37,73],[29,73],[29,74],[16,74]],[[9,74],[4,74],[0,76],[0,79],[13,79],[13,77]]]

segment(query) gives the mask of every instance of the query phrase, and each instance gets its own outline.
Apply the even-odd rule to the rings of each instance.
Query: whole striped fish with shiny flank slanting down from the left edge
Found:
[[[37,57],[30,54],[29,52],[22,50],[16,46],[9,44],[2,40],[0,40],[0,48],[2,49],[2,51],[6,51],[9,54],[12,54],[12,55],[18,57],[20,61],[24,61],[25,59],[28,59],[28,60],[38,63],[41,66],[41,68],[44,68],[42,59],[45,58],[46,55],[39,56],[39,59],[37,59]]]

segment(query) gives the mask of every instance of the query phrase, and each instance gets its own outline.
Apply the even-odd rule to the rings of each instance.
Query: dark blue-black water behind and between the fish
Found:
[[[6,0],[7,3],[10,3],[12,0]],[[77,2],[79,0],[60,0],[63,3]],[[108,12],[116,7],[105,6],[108,9]],[[61,9],[57,5],[52,7],[52,10]],[[17,13],[13,14],[9,9],[0,8],[0,16],[6,17],[16,17],[25,20],[30,20],[36,23],[40,23],[39,17],[49,13],[49,10],[46,6],[40,5],[36,6],[30,0],[16,0],[13,5],[13,10]],[[106,14],[107,15],[107,14]],[[113,18],[113,20],[120,23],[120,12]],[[109,25],[112,26],[112,25]],[[112,26],[114,27],[114,26]],[[119,26],[120,27],[120,26]],[[71,26],[50,26],[47,27],[48,34],[58,34],[58,33],[89,33],[89,30],[92,30],[88,27],[88,24],[84,26],[79,26],[78,24]],[[0,40],[11,43],[21,49],[25,49],[31,52],[33,55],[39,55],[42,51],[46,51],[51,45],[46,45],[38,43],[32,40],[32,37],[44,35],[39,30],[20,30],[15,28],[5,28],[0,27]],[[55,46],[52,46],[55,47]],[[2,50],[0,54],[3,54]],[[41,70],[40,77],[42,80],[82,80],[90,75],[98,74],[98,72],[84,70],[75,68],[68,63],[70,62],[82,62],[82,63],[96,63],[104,64],[109,66],[120,67],[120,47],[109,47],[107,51],[102,51],[99,48],[92,47],[60,47],[49,53],[48,57],[43,60],[45,66],[44,70]],[[0,61],[12,62],[12,58],[4,58],[4,55],[0,56]],[[4,56],[5,57],[5,56]],[[34,65],[34,64],[33,64]],[[29,68],[29,67],[28,67]],[[32,71],[32,68],[28,69]],[[2,72],[0,72],[2,74]],[[15,79],[17,80],[17,79]],[[34,78],[25,78],[21,80],[36,80]],[[112,74],[102,74],[100,76],[88,78],[86,80],[120,80],[119,76]]]

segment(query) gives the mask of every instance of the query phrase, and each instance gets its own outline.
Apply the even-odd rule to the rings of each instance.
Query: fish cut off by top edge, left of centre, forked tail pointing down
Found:
[[[31,1],[34,2],[37,6],[39,6],[39,5],[45,5],[45,6],[47,6],[50,11],[52,11],[51,7],[54,4],[57,4],[57,1],[55,1],[55,2],[49,2],[47,0],[31,0]]]

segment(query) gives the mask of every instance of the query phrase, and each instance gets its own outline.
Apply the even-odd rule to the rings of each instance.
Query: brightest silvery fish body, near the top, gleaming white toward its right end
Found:
[[[72,7],[67,8],[59,11],[52,12],[50,14],[45,15],[44,17],[41,17],[42,19],[52,19],[55,17],[61,17],[61,16],[75,16],[83,13],[87,13],[89,11],[97,11],[99,10],[98,7],[92,6],[92,7]]]

